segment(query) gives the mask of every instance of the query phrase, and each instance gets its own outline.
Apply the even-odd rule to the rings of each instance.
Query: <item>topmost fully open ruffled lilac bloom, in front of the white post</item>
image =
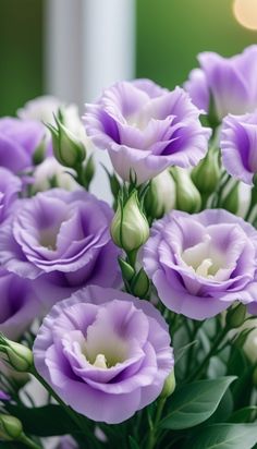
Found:
[[[121,82],[86,105],[84,122],[93,143],[107,149],[124,181],[137,183],[169,166],[196,166],[207,151],[210,135],[199,122],[199,110],[180,87],[169,92],[148,80]]]

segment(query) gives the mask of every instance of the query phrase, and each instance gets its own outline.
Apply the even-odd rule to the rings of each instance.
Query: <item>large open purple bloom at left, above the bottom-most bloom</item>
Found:
[[[37,279],[36,291],[52,303],[88,283],[113,287],[119,251],[110,236],[113,213],[85,191],[53,189],[20,201],[0,229],[0,262]]]

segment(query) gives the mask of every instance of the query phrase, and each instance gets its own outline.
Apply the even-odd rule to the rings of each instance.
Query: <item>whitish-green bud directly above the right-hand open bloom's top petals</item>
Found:
[[[198,213],[201,198],[186,169],[173,167],[172,177],[176,185],[176,208],[189,214]]]

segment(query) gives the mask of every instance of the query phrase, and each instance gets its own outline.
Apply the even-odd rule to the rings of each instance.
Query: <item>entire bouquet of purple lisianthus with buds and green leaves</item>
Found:
[[[0,119],[1,448],[257,447],[257,46],[199,64]]]

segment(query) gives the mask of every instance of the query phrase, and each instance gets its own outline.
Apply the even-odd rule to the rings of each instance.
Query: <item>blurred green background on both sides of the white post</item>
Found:
[[[42,7],[0,0],[1,116],[44,93]],[[199,51],[231,56],[257,43],[257,32],[235,21],[232,0],[137,0],[136,8],[136,75],[170,88],[186,80]]]

